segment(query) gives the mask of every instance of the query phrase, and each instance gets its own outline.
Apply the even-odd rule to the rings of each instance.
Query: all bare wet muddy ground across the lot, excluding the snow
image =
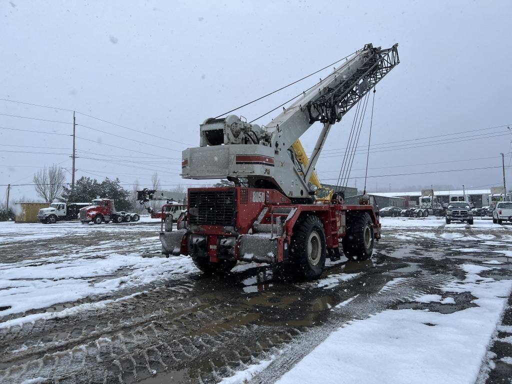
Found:
[[[66,231],[65,226],[73,223],[58,225]],[[136,247],[144,257],[159,254],[156,224],[118,226],[114,231],[80,230],[80,236],[27,240],[20,231],[19,237],[0,246],[0,263],[51,259],[77,248],[85,253],[90,249],[91,257],[102,257],[94,252],[98,244],[117,253]],[[464,279],[459,267],[463,263],[500,261],[504,263],[501,268],[487,275],[511,278],[509,259],[495,252],[510,249],[512,244],[506,242],[508,235],[503,231],[457,228],[456,232],[468,239],[463,242],[442,237],[450,231],[454,230],[444,226],[409,228],[404,234],[403,228],[385,228],[385,237],[376,245],[371,261],[329,262],[324,280],[319,282],[283,282],[274,278],[269,266],[239,264],[225,278],[199,271],[173,275],[163,282],[28,311],[24,315],[114,300],[104,308],[0,329],[0,381],[215,383],[274,356],[273,364],[252,380],[273,382],[332,330],[353,319],[393,308],[424,307],[446,313],[474,306],[471,295],[465,294],[455,295],[455,305],[413,301],[418,295],[439,294],[442,286]],[[489,233],[493,241],[488,240]],[[117,271],[106,278],[120,274],[122,271]],[[386,285],[395,278],[404,279]],[[336,308],[356,294],[350,304]],[[115,301],[117,298],[122,300]],[[509,300],[495,339],[489,340],[483,382],[508,382],[512,377],[512,366],[501,360],[512,356],[512,344],[500,341],[512,335],[507,332],[512,325],[510,304]],[[0,322],[19,316],[4,316]]]

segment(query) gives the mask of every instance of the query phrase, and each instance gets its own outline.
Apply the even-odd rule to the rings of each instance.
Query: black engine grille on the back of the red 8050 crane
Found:
[[[236,190],[189,190],[190,224],[234,225]]]

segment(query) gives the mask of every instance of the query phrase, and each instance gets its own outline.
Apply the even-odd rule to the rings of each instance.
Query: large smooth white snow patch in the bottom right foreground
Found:
[[[462,268],[465,280],[446,285],[444,298],[428,295],[417,301],[454,304],[450,294],[469,292],[476,297],[476,307],[446,314],[386,310],[349,322],[277,383],[474,383],[512,281],[482,277],[489,267],[464,264]]]

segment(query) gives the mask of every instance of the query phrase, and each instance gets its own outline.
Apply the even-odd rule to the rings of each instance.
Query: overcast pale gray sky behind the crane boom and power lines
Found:
[[[137,178],[150,186],[156,170],[173,188],[196,183],[181,180],[179,162],[187,144],[199,145],[205,118],[368,42],[398,42],[400,65],[377,86],[372,143],[429,138],[372,146],[368,175],[437,173],[369,178],[368,189],[501,183],[500,152],[512,151],[511,135],[506,127],[488,128],[512,124],[512,2],[184,3],[0,1],[0,98],[80,112],[77,178],[118,176],[126,184]],[[252,120],[327,73],[238,114]],[[69,135],[72,112],[0,100],[0,114],[0,184],[30,183],[39,167],[53,163],[71,169],[70,136],[12,129]],[[338,148],[346,146],[353,114],[333,126],[316,166],[322,180],[336,181]],[[308,153],[318,132],[314,126],[303,136]],[[367,140],[365,124],[359,145]],[[364,176],[365,161],[365,154],[356,156],[352,176]],[[450,169],[472,170],[439,172]],[[15,186],[11,196],[36,197],[33,186]]]

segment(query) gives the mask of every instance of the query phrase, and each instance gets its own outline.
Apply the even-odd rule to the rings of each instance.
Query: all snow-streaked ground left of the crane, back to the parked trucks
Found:
[[[26,260],[0,264],[0,317],[17,314],[0,322],[0,328],[104,306],[105,300],[93,298],[87,304],[60,312],[25,314],[30,310],[100,297],[120,289],[136,288],[157,280],[198,272],[188,257],[144,257],[142,252],[146,250],[159,253],[160,220],[143,217],[141,221],[156,225],[0,223],[0,252],[12,249],[18,243],[17,247],[23,249],[26,243],[49,241],[40,257],[34,258],[31,254]],[[140,236],[142,230],[150,236]],[[98,235],[110,237],[104,240]],[[96,237],[98,241],[94,240]],[[84,238],[91,240],[81,242]],[[73,242],[70,239],[74,239]],[[75,245],[75,242],[79,245]]]

